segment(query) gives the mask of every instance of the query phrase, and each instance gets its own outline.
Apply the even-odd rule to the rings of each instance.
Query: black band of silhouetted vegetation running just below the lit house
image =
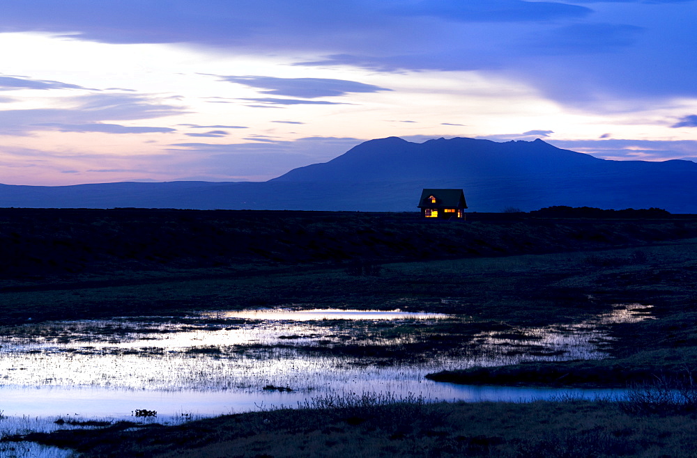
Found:
[[[530,213],[537,218],[470,214],[470,222],[457,224],[424,221],[416,212],[0,209],[0,279],[245,262],[346,264],[351,275],[374,276],[383,262],[592,250],[697,236],[697,219],[632,219],[666,216],[663,210],[551,208],[556,210]],[[602,216],[556,219],[569,212]]]

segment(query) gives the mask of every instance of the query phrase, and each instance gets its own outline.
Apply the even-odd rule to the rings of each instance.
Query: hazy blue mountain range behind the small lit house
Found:
[[[610,161],[539,139],[389,137],[268,182],[0,185],[0,207],[416,211],[422,188],[461,188],[476,212],[569,205],[697,213],[696,184],[692,161]]]

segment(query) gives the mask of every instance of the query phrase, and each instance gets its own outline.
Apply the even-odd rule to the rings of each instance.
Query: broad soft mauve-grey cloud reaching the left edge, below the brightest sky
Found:
[[[169,100],[148,95],[91,94],[61,100],[67,108],[0,110],[0,134],[25,135],[28,132],[55,129],[64,129],[64,132],[122,134],[171,132],[164,127],[125,127],[102,124],[102,121],[143,120],[187,113],[180,106],[169,103]],[[145,130],[138,132],[141,129]]]

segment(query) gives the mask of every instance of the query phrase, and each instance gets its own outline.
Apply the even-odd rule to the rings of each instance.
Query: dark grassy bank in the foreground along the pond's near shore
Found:
[[[177,427],[30,434],[84,457],[687,457],[693,413],[633,413],[609,401],[436,403],[353,396]]]

